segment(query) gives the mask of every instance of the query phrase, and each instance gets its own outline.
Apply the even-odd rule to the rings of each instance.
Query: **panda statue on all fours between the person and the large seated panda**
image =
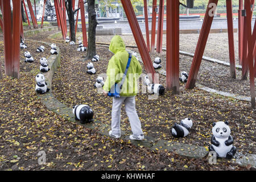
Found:
[[[174,126],[172,126],[172,137],[180,138],[180,137],[186,137],[189,134],[189,131],[193,125],[191,118],[185,118],[182,119],[179,124],[174,123]]]

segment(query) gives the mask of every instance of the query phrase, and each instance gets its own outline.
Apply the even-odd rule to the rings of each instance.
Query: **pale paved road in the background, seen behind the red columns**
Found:
[[[251,22],[252,27],[254,26],[255,19]],[[157,22],[156,22],[156,27],[157,27]],[[195,20],[195,21],[181,21],[180,22],[180,30],[197,30],[201,29],[201,26],[203,24],[203,20]],[[233,20],[234,28],[238,28],[238,20]],[[117,28],[121,27],[122,28],[122,33],[127,34],[131,33],[131,28],[129,26],[129,23],[100,23],[100,26],[103,26],[104,28]],[[145,24],[144,23],[139,23],[139,26],[141,27],[141,30],[143,33],[146,32],[145,30]],[[151,30],[151,22],[148,24],[150,30]],[[212,23],[212,29],[226,29],[228,28],[227,26],[227,21],[226,20],[214,20]],[[166,30],[166,22],[164,22],[164,30]]]

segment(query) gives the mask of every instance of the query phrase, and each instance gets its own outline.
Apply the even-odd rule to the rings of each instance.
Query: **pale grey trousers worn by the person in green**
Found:
[[[131,131],[133,135],[142,135],[141,129],[141,121],[139,121],[139,117],[135,108],[135,96],[131,97],[113,97],[112,104],[112,133],[114,135],[121,135],[120,130],[120,119],[121,119],[121,107],[123,102],[125,102],[125,111],[129,117]]]

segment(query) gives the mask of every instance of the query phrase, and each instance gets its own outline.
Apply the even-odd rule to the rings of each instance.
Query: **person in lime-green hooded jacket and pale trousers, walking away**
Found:
[[[107,69],[107,78],[104,83],[104,95],[108,96],[108,92],[115,83],[122,80],[126,65],[129,59],[129,53],[125,49],[125,43],[121,36],[115,35],[109,46],[109,51],[114,54],[109,60]],[[142,73],[142,67],[136,57],[131,57],[130,67],[127,71],[125,81],[122,85],[119,98],[113,97],[112,104],[112,130],[109,135],[114,138],[121,137],[120,120],[121,120],[121,106],[125,104],[125,110],[129,117],[131,131],[130,139],[143,140],[144,135],[141,129],[141,121],[135,108],[135,96],[138,93],[137,80]]]

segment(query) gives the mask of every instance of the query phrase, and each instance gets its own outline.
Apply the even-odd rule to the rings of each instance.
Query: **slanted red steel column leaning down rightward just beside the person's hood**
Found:
[[[139,53],[141,54],[146,72],[152,74],[152,81],[157,84],[159,82],[158,74],[156,74],[155,72],[150,55],[147,51],[147,46],[142,36],[141,28],[139,27],[139,23],[134,13],[133,6],[131,5],[131,2],[127,0],[121,0],[121,2],[123,5],[123,9],[125,10],[127,19],[129,21],[131,31],[133,32],[135,42],[138,46]]]

